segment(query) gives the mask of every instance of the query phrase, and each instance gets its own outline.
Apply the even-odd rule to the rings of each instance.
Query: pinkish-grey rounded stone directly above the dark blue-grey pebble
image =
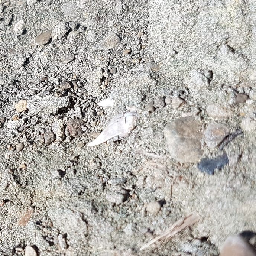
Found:
[[[229,135],[229,128],[223,124],[210,123],[205,130],[205,143],[213,149]]]

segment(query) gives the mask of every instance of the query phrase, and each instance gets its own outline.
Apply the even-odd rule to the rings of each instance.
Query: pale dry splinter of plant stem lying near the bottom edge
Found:
[[[145,250],[147,247],[152,245],[153,243],[163,240],[163,239],[169,239],[172,236],[175,236],[177,233],[179,233],[181,230],[185,229],[188,226],[191,226],[192,224],[196,223],[199,220],[199,216],[197,214],[189,214],[185,218],[182,218],[178,221],[176,221],[171,227],[169,227],[163,234],[155,237],[154,239],[150,240],[148,243],[143,245],[140,250]]]

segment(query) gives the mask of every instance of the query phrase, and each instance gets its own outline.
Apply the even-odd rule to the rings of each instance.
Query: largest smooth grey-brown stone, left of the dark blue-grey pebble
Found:
[[[164,135],[172,158],[181,163],[194,163],[202,156],[202,126],[193,117],[182,117],[168,123]]]

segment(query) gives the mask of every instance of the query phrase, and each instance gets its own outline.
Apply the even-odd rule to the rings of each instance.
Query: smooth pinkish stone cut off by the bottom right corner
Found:
[[[229,236],[220,249],[220,256],[256,256],[251,246],[240,235]]]

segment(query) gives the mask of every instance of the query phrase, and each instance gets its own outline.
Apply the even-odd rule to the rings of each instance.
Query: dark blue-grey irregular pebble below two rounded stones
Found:
[[[213,175],[214,169],[221,169],[229,163],[227,154],[217,156],[216,158],[204,158],[198,163],[197,167],[201,172]]]

